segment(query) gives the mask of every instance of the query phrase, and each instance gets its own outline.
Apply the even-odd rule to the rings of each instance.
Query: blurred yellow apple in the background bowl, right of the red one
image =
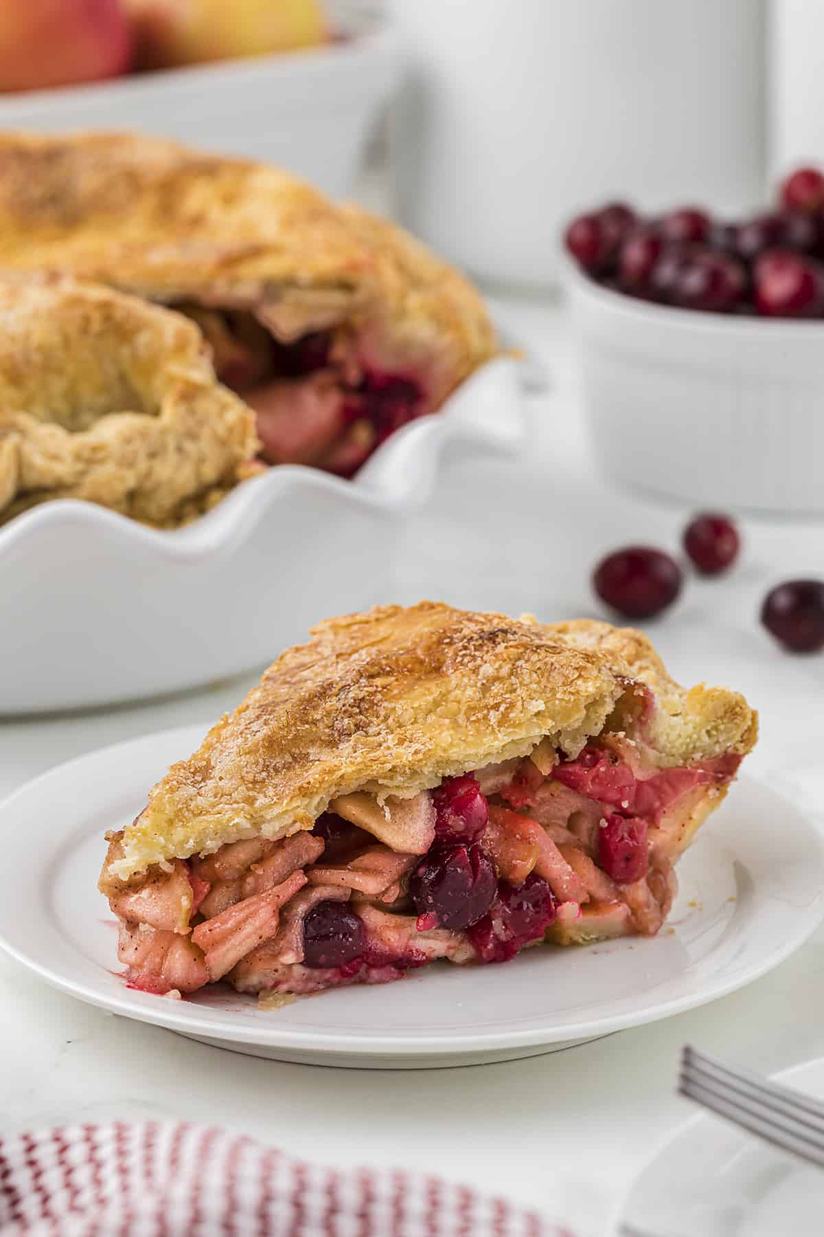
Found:
[[[326,42],[317,0],[127,0],[140,68],[288,52]]]

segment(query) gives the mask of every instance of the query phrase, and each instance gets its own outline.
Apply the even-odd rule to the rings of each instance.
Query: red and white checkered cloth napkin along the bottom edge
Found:
[[[0,1237],[572,1237],[504,1199],[384,1169],[336,1171],[185,1122],[0,1139]]]

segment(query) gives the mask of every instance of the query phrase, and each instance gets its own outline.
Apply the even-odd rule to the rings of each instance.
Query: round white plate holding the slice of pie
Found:
[[[0,946],[48,983],[112,1013],[236,1051],[357,1068],[509,1060],[666,1018],[749,983],[824,918],[824,849],[807,819],[742,779],[679,866],[670,925],[588,949],[534,949],[503,966],[434,966],[261,1011],[215,990],[172,1001],[128,990],[96,880],[103,834],[205,726],[117,743],[62,764],[0,805]],[[776,846],[776,836],[781,846]]]

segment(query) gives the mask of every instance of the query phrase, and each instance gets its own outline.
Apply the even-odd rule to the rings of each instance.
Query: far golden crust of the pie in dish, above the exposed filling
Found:
[[[497,350],[478,293],[400,229],[277,168],[135,134],[0,135],[2,268],[253,307],[284,341],[351,322],[383,355],[434,351],[434,402]]]

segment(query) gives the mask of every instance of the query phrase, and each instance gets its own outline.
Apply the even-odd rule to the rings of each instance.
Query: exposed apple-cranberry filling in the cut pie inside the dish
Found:
[[[420,366],[382,366],[347,328],[282,343],[251,310],[178,308],[203,330],[219,380],[254,409],[268,464],[350,477],[389,434],[431,411]]]

